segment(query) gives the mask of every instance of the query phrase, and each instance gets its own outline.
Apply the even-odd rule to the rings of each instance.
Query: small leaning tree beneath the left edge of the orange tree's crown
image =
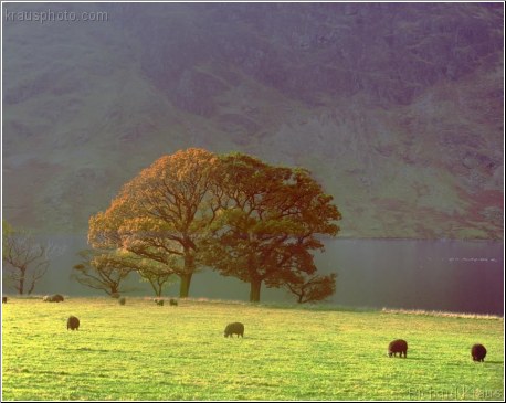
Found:
[[[77,283],[94,289],[101,289],[108,295],[125,293],[122,285],[135,269],[116,251],[81,251],[82,258],[73,269],[72,277]]]

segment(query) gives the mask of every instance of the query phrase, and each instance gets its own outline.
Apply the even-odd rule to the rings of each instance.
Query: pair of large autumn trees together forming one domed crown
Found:
[[[127,182],[91,218],[88,242],[156,262],[180,277],[181,297],[207,265],[250,283],[250,300],[257,301],[262,284],[281,287],[316,272],[313,253],[324,250],[323,236],[336,236],[340,218],[305,169],[188,149]]]

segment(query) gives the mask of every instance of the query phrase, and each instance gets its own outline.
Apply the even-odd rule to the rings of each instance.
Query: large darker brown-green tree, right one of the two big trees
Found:
[[[294,273],[316,272],[313,252],[335,236],[340,213],[305,169],[273,167],[242,153],[220,158],[219,205],[202,242],[205,263],[250,283],[259,301],[262,284],[281,287]]]

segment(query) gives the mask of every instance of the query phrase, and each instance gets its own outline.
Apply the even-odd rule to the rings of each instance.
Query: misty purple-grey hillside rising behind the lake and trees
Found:
[[[141,168],[203,147],[307,167],[341,236],[503,237],[502,4],[51,8],[108,21],[3,23],[12,224],[85,233]]]

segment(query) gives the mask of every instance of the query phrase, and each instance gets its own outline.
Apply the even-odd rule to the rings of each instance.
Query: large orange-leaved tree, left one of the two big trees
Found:
[[[105,212],[91,218],[88,242],[172,267],[180,297],[188,297],[199,243],[217,210],[210,192],[217,161],[194,148],[159,158],[127,182]],[[175,256],[181,265],[172,266]]]

